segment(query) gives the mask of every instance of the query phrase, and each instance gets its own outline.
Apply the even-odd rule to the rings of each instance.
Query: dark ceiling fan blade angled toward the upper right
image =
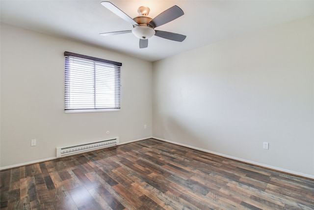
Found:
[[[149,22],[148,25],[150,25],[153,28],[156,28],[158,26],[161,26],[163,24],[166,24],[166,23],[169,23],[170,21],[175,20],[181,17],[182,15],[184,15],[184,12],[182,11],[182,9],[179,6],[175,5],[161,12],[153,20],[151,20],[151,22]]]

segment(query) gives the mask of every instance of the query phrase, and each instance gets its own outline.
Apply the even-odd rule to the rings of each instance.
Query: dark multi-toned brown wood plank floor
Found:
[[[155,139],[1,175],[1,210],[314,210],[314,180]]]

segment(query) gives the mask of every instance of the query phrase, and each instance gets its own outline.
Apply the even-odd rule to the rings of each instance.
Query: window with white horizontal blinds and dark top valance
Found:
[[[122,63],[64,52],[65,112],[120,109]]]

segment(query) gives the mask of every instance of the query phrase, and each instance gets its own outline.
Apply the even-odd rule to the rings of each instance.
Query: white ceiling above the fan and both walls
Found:
[[[132,25],[100,4],[102,0],[0,0],[1,22],[96,45],[143,60],[160,60],[251,31],[314,15],[314,0],[111,0],[134,18],[139,6],[156,17],[173,5],[184,15],[157,27],[186,35],[183,42],[153,36],[148,48],[139,49]]]

